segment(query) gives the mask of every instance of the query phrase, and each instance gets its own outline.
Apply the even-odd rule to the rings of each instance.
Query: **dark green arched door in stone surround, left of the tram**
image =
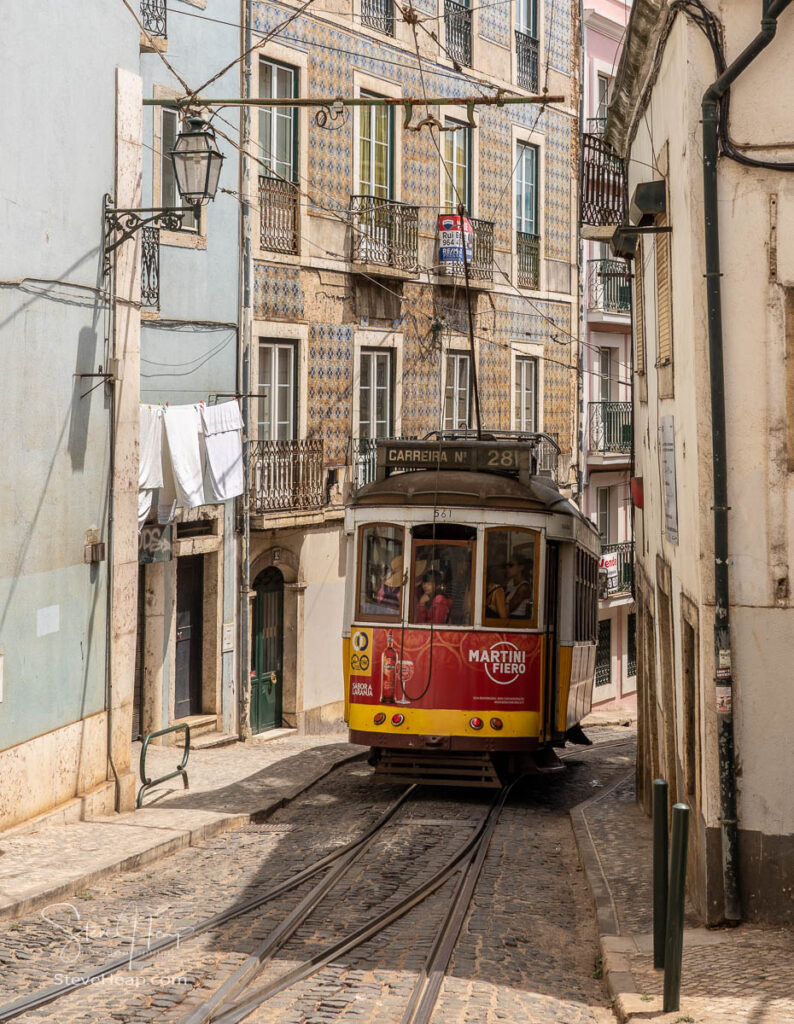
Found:
[[[251,644],[251,731],[281,725],[284,663],[284,577],[266,568],[254,582]]]

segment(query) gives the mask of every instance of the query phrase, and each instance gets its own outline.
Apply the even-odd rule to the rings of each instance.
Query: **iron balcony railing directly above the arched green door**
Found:
[[[326,504],[323,440],[251,441],[251,512],[298,512]]]

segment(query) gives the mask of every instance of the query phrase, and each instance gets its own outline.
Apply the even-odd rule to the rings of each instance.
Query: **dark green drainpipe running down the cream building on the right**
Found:
[[[739,843],[734,762],[733,674],[727,550],[727,460],[722,365],[722,310],[717,207],[718,105],[732,83],[775,38],[778,17],[792,0],[763,0],[761,31],[703,95],[703,185],[706,297],[711,378],[711,441],[714,472],[714,658],[717,696],[722,884],[726,921],[741,921]]]

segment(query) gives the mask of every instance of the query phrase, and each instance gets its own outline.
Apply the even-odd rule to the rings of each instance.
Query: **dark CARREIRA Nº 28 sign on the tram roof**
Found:
[[[516,472],[529,462],[527,444],[490,441],[389,441],[378,445],[378,463],[389,469],[462,469]]]

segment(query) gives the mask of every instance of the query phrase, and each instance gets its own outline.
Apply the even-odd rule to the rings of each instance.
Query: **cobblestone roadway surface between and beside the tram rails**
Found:
[[[626,738],[625,729],[598,730]],[[626,771],[631,745],[577,750],[560,775],[511,797],[441,993],[434,1024],[603,1024],[592,906],[568,812]],[[251,899],[361,835],[402,792],[348,764],[261,825],[247,825],[119,873],[59,905],[0,925],[0,1001],[84,975],[147,937],[178,933],[178,948],[78,989],[22,1022],[170,1022],[203,1002],[314,885],[191,938],[199,921]],[[422,790],[265,968],[280,976],[332,938],[396,902],[459,849],[483,816],[482,791]],[[449,903],[452,882],[252,1016],[286,1024],[399,1022]],[[4,930],[4,932],[3,932]],[[257,982],[258,983],[258,982]]]

